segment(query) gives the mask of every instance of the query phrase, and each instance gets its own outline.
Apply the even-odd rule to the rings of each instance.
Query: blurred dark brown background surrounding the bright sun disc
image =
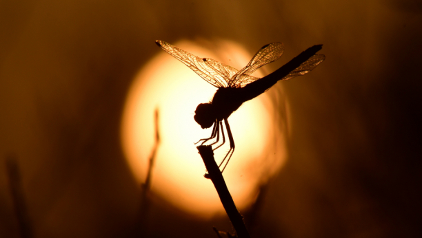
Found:
[[[0,237],[232,230],[144,196],[126,160],[125,103],[157,39],[283,42],[266,73],[324,45],[313,72],[268,91],[288,102],[285,158],[241,208],[252,237],[420,237],[421,29],[412,0],[0,1]]]

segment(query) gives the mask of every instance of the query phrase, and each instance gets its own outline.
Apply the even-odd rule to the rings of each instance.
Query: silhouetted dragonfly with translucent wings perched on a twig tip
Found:
[[[230,150],[221,161],[220,167],[226,159],[227,162],[225,163],[225,166],[227,166],[234,152],[234,140],[228,123],[228,117],[236,111],[243,102],[259,96],[264,91],[270,89],[278,80],[288,80],[296,76],[308,74],[325,59],[323,54],[316,54],[316,52],[322,49],[322,45],[314,45],[294,57],[276,71],[268,74],[268,76],[257,78],[250,74],[259,69],[259,67],[280,58],[284,50],[283,43],[277,42],[264,45],[257,54],[252,57],[248,65],[241,70],[214,61],[212,58],[194,56],[165,41],[155,41],[155,43],[165,50],[165,52],[168,52],[168,54],[171,54],[174,58],[177,58],[190,67],[190,69],[201,76],[205,81],[214,87],[218,87],[211,102],[198,105],[195,110],[194,120],[201,125],[203,129],[210,128],[214,125],[210,138],[199,140],[199,142],[202,141],[202,144],[216,137],[215,142],[210,145],[217,144],[217,142],[219,142],[219,131],[221,129],[223,142],[213,150],[218,149],[225,143],[223,131],[224,121],[230,142]],[[222,171],[224,171],[225,166]]]

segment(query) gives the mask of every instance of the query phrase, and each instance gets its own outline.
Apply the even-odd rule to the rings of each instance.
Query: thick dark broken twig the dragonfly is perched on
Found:
[[[250,238],[249,232],[246,229],[245,223],[243,222],[243,217],[237,210],[236,205],[234,205],[232,195],[230,195],[219,166],[214,160],[214,152],[212,151],[212,147],[209,145],[201,145],[197,147],[197,149],[208,171],[207,177],[210,177],[212,183],[214,184],[225,212],[227,213],[230,221],[232,221],[234,230],[236,230],[237,237]]]

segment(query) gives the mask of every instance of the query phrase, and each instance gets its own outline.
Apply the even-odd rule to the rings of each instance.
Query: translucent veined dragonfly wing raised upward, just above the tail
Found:
[[[243,87],[248,83],[252,83],[258,78],[250,76],[255,70],[259,69],[263,65],[277,61],[283,54],[284,46],[283,43],[275,42],[268,45],[264,45],[249,61],[248,65],[243,67],[236,76],[231,78],[228,83],[229,87]],[[245,82],[243,82],[245,81]],[[248,81],[248,83],[246,83]]]

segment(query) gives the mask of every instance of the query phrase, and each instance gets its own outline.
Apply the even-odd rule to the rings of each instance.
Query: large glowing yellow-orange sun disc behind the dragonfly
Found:
[[[187,41],[174,45],[237,69],[252,57],[228,41],[219,42],[214,53]],[[128,163],[137,179],[144,182],[155,143],[154,110],[158,108],[161,142],[152,171],[152,192],[200,217],[223,213],[212,182],[203,177],[205,166],[194,145],[211,134],[211,129],[203,130],[194,121],[194,110],[199,103],[210,101],[217,88],[158,47],[157,52],[159,55],[134,79],[125,105],[122,143]],[[238,208],[253,202],[257,186],[283,164],[285,150],[274,146],[274,140],[283,143],[279,129],[274,128],[278,123],[274,123],[273,111],[270,99],[263,94],[245,102],[228,118],[236,150],[223,175]],[[226,142],[214,151],[215,158],[223,158],[228,148]]]

